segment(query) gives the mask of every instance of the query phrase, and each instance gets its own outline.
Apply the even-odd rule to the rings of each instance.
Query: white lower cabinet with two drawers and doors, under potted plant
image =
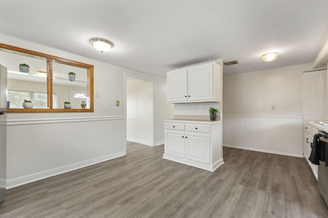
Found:
[[[163,158],[214,171],[222,165],[220,121],[165,120]]]

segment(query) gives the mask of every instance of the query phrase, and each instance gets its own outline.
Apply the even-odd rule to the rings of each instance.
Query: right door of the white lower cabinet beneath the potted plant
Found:
[[[211,139],[209,134],[186,132],[186,159],[210,164]]]

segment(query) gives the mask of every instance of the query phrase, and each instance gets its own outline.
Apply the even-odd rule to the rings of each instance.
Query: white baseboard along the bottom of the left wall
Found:
[[[45,179],[48,177],[56,176],[56,175],[59,175],[64,172],[69,172],[69,171],[72,171],[75,169],[79,169],[79,168],[83,168],[83,167],[97,164],[100,162],[108,161],[108,160],[118,158],[121,156],[125,156],[125,155],[126,155],[126,152],[121,151],[121,152],[117,152],[117,153],[111,154],[111,155],[106,155],[106,156],[102,156],[102,157],[98,157],[98,158],[94,158],[94,159],[89,159],[86,161],[81,161],[81,162],[69,164],[66,166],[61,166],[61,167],[57,167],[54,169],[45,170],[42,172],[36,172],[36,173],[30,174],[30,175],[27,175],[24,177],[10,179],[10,180],[7,180],[7,189],[10,189],[10,188],[13,188],[16,186],[20,186],[20,185],[24,185],[27,183],[31,183],[31,182],[34,182],[37,180],[42,180],[42,179]]]

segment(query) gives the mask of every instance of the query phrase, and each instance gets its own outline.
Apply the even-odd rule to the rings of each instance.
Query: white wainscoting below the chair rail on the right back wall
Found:
[[[223,115],[223,146],[303,157],[302,116]]]

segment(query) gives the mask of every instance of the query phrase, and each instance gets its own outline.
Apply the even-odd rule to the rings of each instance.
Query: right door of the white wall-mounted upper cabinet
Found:
[[[188,69],[188,101],[214,100],[213,68],[206,64]]]

